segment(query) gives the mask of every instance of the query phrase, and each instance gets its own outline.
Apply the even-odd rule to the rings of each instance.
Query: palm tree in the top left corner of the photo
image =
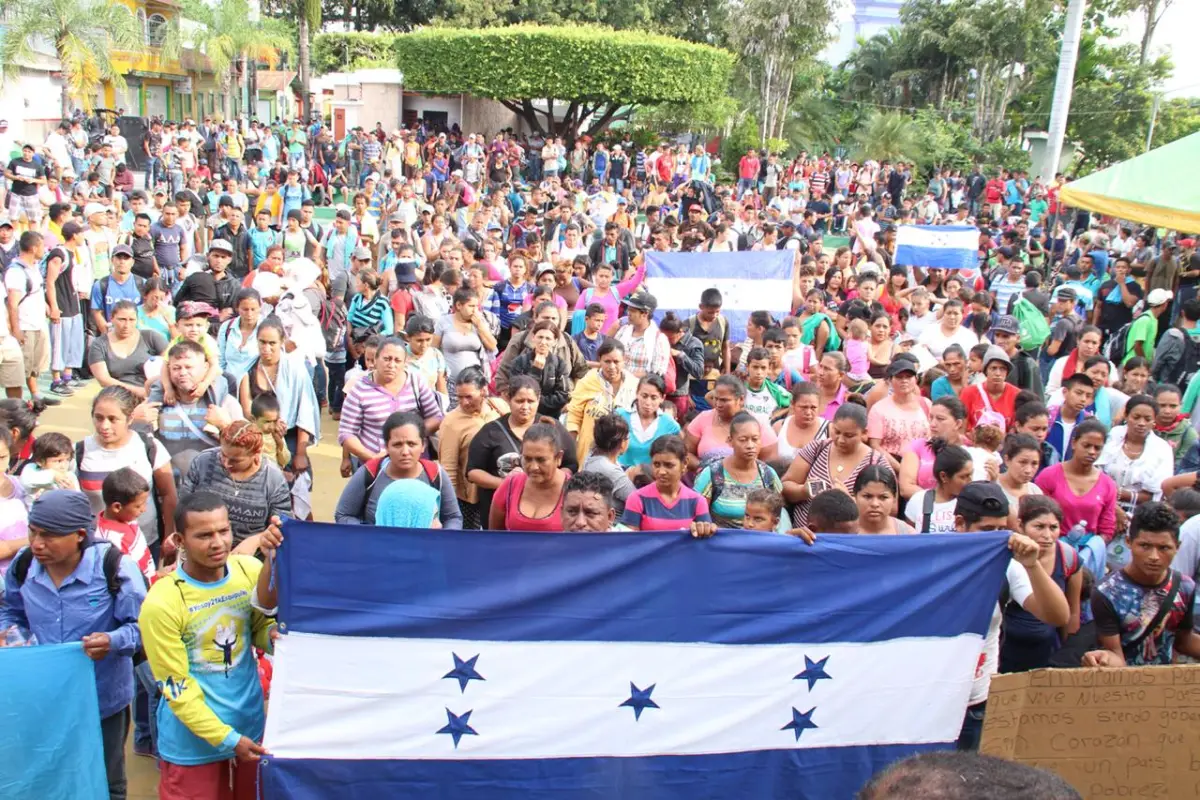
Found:
[[[36,58],[40,42],[49,43],[62,65],[62,118],[71,101],[85,112],[103,83],[125,89],[113,61],[119,50],[145,50],[145,37],[128,7],[116,0],[5,0],[11,17],[0,37],[0,79],[20,74]]]

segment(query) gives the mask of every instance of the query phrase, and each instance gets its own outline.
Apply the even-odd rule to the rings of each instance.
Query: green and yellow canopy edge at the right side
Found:
[[[1072,181],[1058,199],[1156,228],[1200,231],[1200,133]]]

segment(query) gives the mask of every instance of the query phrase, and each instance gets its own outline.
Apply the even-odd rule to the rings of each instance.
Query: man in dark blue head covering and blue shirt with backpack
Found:
[[[125,738],[133,699],[133,654],[146,582],[108,542],[94,542],[88,497],[52,489],[29,510],[29,547],[5,573],[0,630],[16,626],[37,644],[83,643],[95,661],[108,792],[125,796]],[[68,687],[70,688],[70,687]]]

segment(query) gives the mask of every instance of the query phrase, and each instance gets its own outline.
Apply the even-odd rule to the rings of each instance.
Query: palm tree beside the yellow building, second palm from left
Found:
[[[218,0],[215,5],[185,0],[184,16],[202,25],[191,35],[191,43],[212,65],[224,96],[224,118],[230,120],[234,116],[230,89],[245,89],[239,84],[239,73],[241,80],[248,80],[248,65],[258,61],[275,68],[281,55],[292,52],[292,36],[280,20],[254,19],[246,0]],[[253,108],[242,110],[253,115]]]

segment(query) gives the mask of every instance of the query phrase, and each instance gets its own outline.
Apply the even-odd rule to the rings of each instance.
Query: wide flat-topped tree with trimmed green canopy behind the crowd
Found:
[[[530,130],[566,138],[638,106],[714,101],[733,66],[714,47],[584,25],[433,28],[397,36],[396,54],[412,89],[491,97]]]

